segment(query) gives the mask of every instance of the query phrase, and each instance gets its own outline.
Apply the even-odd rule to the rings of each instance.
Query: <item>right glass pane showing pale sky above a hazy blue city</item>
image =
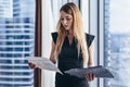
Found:
[[[105,61],[114,79],[104,87],[130,87],[130,0],[105,0]]]

